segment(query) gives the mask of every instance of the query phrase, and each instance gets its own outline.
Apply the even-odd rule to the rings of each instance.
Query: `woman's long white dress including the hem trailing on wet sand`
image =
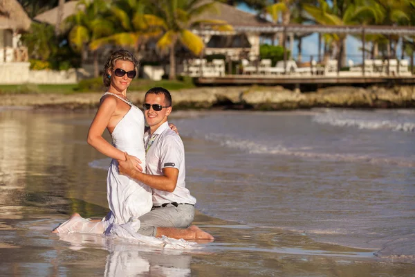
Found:
[[[144,148],[144,114],[134,106],[116,94],[112,95],[131,106],[124,118],[118,122],[111,136],[113,145],[123,152],[137,157],[142,161],[140,166],[145,170]],[[137,233],[140,229],[138,217],[148,213],[153,206],[151,188],[127,176],[118,173],[118,161],[113,159],[107,175],[107,199],[110,212],[101,222],[91,223],[89,219],[76,217],[75,220],[67,220],[59,227],[59,235],[64,240],[76,240],[76,236],[65,236],[64,233],[95,233],[97,224],[103,224],[104,234],[113,238],[125,238],[130,241],[149,244],[158,247],[184,249],[192,248],[195,242],[187,242],[183,239],[154,238]],[[63,234],[62,234],[63,233]]]

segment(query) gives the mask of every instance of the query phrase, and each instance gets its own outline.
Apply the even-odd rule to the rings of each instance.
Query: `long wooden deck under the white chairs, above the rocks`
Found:
[[[199,77],[197,84],[415,84],[415,75],[225,75]]]

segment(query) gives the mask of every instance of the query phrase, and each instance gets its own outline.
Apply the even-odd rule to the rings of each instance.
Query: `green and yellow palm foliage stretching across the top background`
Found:
[[[59,6],[63,0],[39,0],[19,2],[35,16],[43,6]],[[383,25],[414,26],[415,0],[234,0],[225,1],[236,5],[246,3],[257,10],[259,16],[275,24],[323,24],[323,25]],[[32,4],[30,4],[32,3]],[[215,30],[232,30],[225,21],[210,20],[203,13],[214,11],[214,2],[205,0],[80,0],[78,12],[60,24],[59,32],[43,24],[34,23],[32,33],[24,36],[30,57],[43,62],[54,60],[59,48],[71,47],[79,60],[85,53],[92,53],[95,76],[98,75],[98,49],[107,44],[131,48],[139,58],[149,45],[156,46],[155,55],[169,64],[169,78],[176,78],[176,55],[185,49],[194,56],[203,53],[203,39],[191,30],[197,26],[209,26]],[[62,26],[62,27],[61,27]],[[280,46],[285,46],[282,34],[278,34]],[[310,33],[295,37],[299,54],[302,39]],[[346,35],[323,34],[326,55],[346,60]],[[362,39],[360,35],[356,38]],[[362,50],[371,57],[394,57],[398,46],[403,53],[412,55],[415,37],[398,35],[365,35]],[[56,43],[59,42],[59,43]],[[265,49],[265,48],[264,48]],[[60,51],[62,53],[62,51]],[[72,55],[70,51],[63,51]],[[263,51],[264,53],[264,51]],[[61,54],[61,57],[64,54]],[[66,54],[65,54],[66,55]],[[268,54],[267,54],[268,55]],[[301,55],[299,55],[301,60]],[[73,59],[72,59],[73,60]],[[168,61],[168,62],[167,62]],[[77,64],[76,61],[71,62]],[[79,64],[79,62],[78,62]],[[39,64],[38,66],[41,66]],[[41,66],[42,67],[42,66]]]

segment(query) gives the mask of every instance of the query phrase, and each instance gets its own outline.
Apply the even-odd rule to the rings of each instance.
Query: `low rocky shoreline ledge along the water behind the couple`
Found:
[[[171,91],[174,109],[239,109],[278,111],[340,107],[353,109],[414,108],[415,86],[326,87],[299,93],[284,87],[199,87]],[[102,93],[3,94],[0,107],[35,109],[96,109]],[[145,91],[129,91],[127,96],[138,107]]]

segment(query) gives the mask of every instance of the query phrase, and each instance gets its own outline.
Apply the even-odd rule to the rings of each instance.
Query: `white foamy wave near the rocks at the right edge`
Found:
[[[411,116],[412,113],[408,111],[397,112],[397,114],[404,114]],[[397,116],[396,118],[382,119],[382,115],[375,113],[369,114],[346,114],[326,112],[324,114],[316,114],[313,121],[320,124],[329,124],[338,127],[357,127],[359,129],[389,129],[400,132],[415,132],[415,119],[407,118],[405,116]]]

